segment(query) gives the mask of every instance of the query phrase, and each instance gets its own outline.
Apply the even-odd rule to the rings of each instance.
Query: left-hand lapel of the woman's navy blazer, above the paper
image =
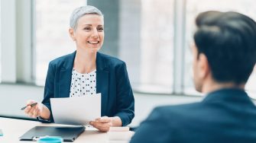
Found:
[[[70,97],[70,84],[75,56],[76,52],[73,52],[71,56],[66,59],[63,67],[60,68],[59,97]]]

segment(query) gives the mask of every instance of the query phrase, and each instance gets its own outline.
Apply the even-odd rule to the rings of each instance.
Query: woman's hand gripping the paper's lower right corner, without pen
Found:
[[[119,117],[102,116],[95,121],[89,122],[91,126],[99,129],[101,132],[108,132],[112,126],[122,126],[122,121]]]

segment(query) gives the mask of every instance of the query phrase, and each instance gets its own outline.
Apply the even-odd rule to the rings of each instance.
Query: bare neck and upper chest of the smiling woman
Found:
[[[96,69],[96,52],[76,51],[73,68],[79,73],[89,73]]]

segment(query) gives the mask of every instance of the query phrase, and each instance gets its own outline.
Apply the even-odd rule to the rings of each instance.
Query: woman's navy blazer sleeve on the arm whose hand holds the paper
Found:
[[[127,126],[134,118],[134,95],[131,90],[125,62],[118,65],[116,75],[118,113],[115,116],[120,117],[122,126]]]

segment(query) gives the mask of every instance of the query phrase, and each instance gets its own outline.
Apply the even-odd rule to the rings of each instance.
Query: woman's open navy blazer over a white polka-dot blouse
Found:
[[[73,52],[49,63],[42,103],[50,110],[50,122],[54,122],[50,98],[70,97],[75,56],[76,52]],[[96,93],[102,94],[102,116],[118,116],[122,126],[128,125],[134,118],[134,96],[125,62],[97,52]]]

